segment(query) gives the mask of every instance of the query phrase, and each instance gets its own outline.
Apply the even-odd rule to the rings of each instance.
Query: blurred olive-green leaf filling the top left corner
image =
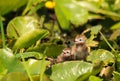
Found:
[[[28,0],[0,0],[0,15],[4,15],[14,9],[25,5]]]

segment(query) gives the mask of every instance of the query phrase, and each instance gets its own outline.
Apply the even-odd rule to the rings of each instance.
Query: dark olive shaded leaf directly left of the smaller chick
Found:
[[[64,49],[63,45],[57,44],[49,44],[46,47],[47,48],[45,49],[45,55],[47,55],[48,57],[57,57]]]

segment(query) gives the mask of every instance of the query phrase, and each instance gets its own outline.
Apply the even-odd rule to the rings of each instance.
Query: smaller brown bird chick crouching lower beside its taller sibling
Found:
[[[71,48],[63,49],[62,53],[56,59],[57,63],[70,60],[72,60]]]

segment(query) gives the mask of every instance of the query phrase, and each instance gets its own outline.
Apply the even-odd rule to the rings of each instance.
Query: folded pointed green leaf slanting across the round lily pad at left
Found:
[[[13,46],[13,50],[20,48],[27,48],[43,37],[45,37],[49,32],[43,29],[34,29],[26,32],[24,35],[19,37]]]

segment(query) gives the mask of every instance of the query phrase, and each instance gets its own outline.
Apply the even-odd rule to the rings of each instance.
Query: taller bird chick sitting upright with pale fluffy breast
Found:
[[[88,47],[86,46],[86,36],[84,34],[75,37],[74,45],[71,49],[71,54],[75,60],[86,60],[88,56]]]

